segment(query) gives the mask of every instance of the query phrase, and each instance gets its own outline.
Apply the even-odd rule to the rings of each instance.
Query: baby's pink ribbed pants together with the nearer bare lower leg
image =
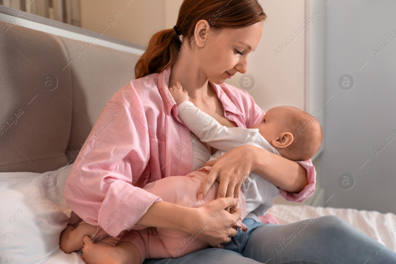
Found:
[[[208,201],[214,200],[217,195],[219,183],[215,182],[205,198],[198,201],[198,190],[208,175],[208,171],[209,168],[205,167],[187,176],[166,177],[147,184],[145,190],[160,196],[164,201],[170,203],[187,207],[200,207]],[[240,194],[240,202],[243,205],[241,206],[241,214],[244,217],[246,215],[246,205],[242,193]],[[246,228],[241,220],[238,222],[240,222],[240,228]],[[184,234],[178,231],[145,228],[126,232],[116,246],[109,247],[94,244],[86,236],[84,237],[84,248],[82,249],[83,258],[88,264],[141,264],[143,262],[142,255],[143,259],[178,257],[209,247],[208,244],[199,239],[194,239],[193,243],[191,241],[187,243],[189,237],[191,237],[191,234]]]

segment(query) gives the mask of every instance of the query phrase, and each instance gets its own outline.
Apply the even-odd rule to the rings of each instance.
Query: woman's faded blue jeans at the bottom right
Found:
[[[327,215],[312,219],[311,222],[302,220],[292,224],[261,224],[245,218],[242,222],[250,232],[242,234],[239,230],[237,236],[225,245],[227,249],[202,249],[180,258],[146,259],[143,263],[396,263],[396,253],[341,218]]]

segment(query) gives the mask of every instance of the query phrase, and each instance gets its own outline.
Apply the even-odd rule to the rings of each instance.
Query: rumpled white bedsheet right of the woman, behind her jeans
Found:
[[[273,215],[279,224],[290,224],[306,219],[315,209],[320,209],[316,217],[336,215],[396,252],[396,215],[392,213],[381,214],[377,211],[279,204],[270,208],[268,213]]]

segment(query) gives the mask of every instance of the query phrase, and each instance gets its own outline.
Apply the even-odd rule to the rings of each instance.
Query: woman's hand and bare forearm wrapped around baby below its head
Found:
[[[206,195],[215,180],[220,182],[217,198],[234,194],[238,198],[242,182],[251,171],[288,192],[299,193],[308,184],[307,170],[299,163],[256,146],[233,148],[204,166],[212,167],[198,191],[198,199]]]

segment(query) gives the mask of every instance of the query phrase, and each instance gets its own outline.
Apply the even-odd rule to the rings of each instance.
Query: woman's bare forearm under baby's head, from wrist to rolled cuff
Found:
[[[299,163],[255,146],[249,147],[252,148],[252,171],[288,192],[299,193],[307,186],[307,170]]]

